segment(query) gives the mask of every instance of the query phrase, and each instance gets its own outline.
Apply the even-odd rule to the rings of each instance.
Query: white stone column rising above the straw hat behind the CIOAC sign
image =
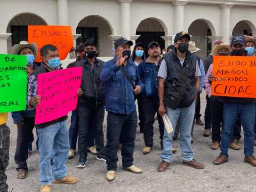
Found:
[[[230,9],[234,6],[234,3],[225,3],[221,4],[221,27],[220,34],[223,36],[223,43],[229,44],[230,41]]]

